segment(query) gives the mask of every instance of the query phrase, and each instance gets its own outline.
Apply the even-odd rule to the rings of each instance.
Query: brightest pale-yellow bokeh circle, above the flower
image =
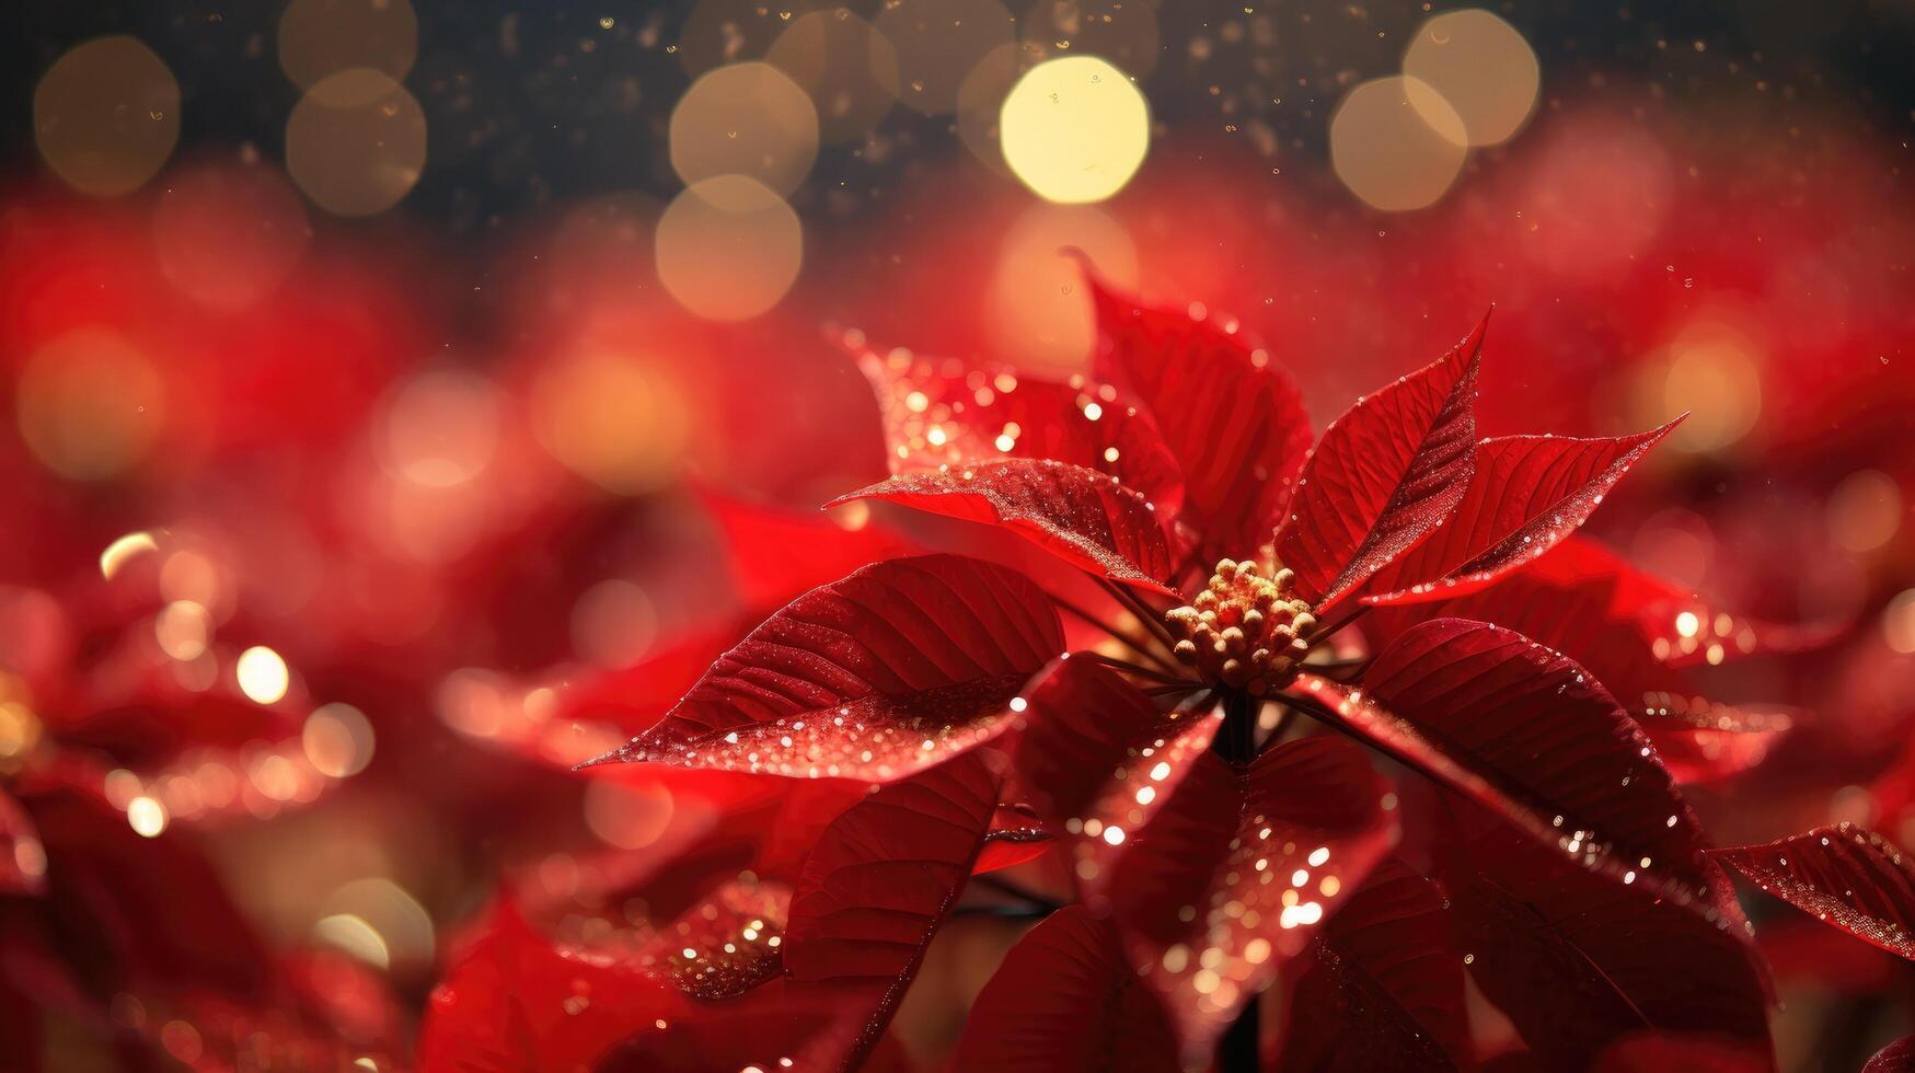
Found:
[[[1038,197],[1103,201],[1151,146],[1151,113],[1122,71],[1095,56],[1046,59],[1011,86],[1000,119],[1003,159]]]

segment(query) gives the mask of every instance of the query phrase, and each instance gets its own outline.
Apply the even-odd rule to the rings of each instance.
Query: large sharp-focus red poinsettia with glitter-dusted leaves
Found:
[[[1724,851],[1683,801],[1787,730],[1683,667],[1804,638],[1576,535],[1668,427],[1480,439],[1478,326],[1312,446],[1235,322],[1093,297],[1095,379],[850,339],[892,477],[845,500],[1044,554],[879,561],[720,655],[599,763],[777,776],[735,855],[584,947],[502,906],[427,1067],[883,1063],[971,878],[1032,855],[1069,904],[1036,899],[959,1069],[1766,1069],[1724,864],[1915,954],[1881,835]],[[1524,1056],[1478,1052],[1465,977]]]

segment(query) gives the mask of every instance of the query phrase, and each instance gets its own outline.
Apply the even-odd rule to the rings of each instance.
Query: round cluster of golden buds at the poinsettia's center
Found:
[[[1302,634],[1316,625],[1310,604],[1291,594],[1295,577],[1287,569],[1262,577],[1252,561],[1216,563],[1208,588],[1164,615],[1183,634],[1178,659],[1205,682],[1268,694],[1310,650]]]

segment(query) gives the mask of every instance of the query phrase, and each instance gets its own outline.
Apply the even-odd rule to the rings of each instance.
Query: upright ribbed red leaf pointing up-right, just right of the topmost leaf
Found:
[[[1463,502],[1486,326],[1323,429],[1277,531],[1277,559],[1296,571],[1296,590],[1312,604],[1327,607],[1356,590]]]

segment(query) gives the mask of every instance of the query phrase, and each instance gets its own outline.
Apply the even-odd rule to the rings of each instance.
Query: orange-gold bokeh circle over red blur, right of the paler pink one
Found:
[[[649,492],[678,473],[686,400],[653,360],[580,351],[540,374],[530,408],[546,450],[609,492]]]

